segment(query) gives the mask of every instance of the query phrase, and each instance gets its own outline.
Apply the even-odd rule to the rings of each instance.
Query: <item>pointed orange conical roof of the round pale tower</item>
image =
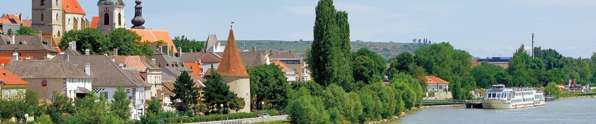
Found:
[[[226,43],[222,60],[219,61],[217,70],[222,76],[249,76],[244,68],[238,47],[236,47],[236,39],[234,38],[234,31],[229,29],[228,43]]]

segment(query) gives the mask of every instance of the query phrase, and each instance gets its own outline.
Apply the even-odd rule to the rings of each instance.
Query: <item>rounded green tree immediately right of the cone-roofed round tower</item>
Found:
[[[267,101],[277,108],[287,105],[288,82],[276,64],[263,64],[248,70],[250,75],[250,92],[257,97],[256,103]],[[254,96],[256,95],[256,96]]]

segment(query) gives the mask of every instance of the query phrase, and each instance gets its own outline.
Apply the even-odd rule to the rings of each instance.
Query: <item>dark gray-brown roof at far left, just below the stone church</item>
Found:
[[[14,48],[17,48],[17,51],[58,52],[56,49],[53,49],[48,46],[49,44],[51,44],[50,42],[46,40],[42,42],[41,38],[39,38],[39,35],[18,35],[14,38],[14,41],[16,42],[15,44],[7,44],[8,41],[12,41],[10,37],[11,36],[9,35],[0,35],[0,51],[14,51]]]

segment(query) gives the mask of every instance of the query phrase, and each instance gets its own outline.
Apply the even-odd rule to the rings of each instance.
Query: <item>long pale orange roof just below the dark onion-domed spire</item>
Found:
[[[128,29],[136,32],[139,36],[141,36],[141,41],[164,41],[167,43],[168,46],[173,46],[174,42],[172,41],[172,37],[167,32],[167,30],[145,30],[145,29]],[[174,47],[174,52],[178,52],[177,48]]]

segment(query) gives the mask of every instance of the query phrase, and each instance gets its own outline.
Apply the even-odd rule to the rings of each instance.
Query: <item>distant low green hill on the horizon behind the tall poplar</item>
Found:
[[[220,41],[225,44],[226,41]],[[311,48],[312,41],[236,41],[238,48],[252,51],[252,47],[256,47],[257,51],[294,51],[301,57],[305,54],[306,48]],[[359,48],[368,48],[381,55],[383,58],[393,58],[401,52],[414,52],[414,49],[420,48],[420,43],[392,43],[392,42],[351,42],[352,51],[357,51]],[[428,45],[428,44],[426,44]]]

